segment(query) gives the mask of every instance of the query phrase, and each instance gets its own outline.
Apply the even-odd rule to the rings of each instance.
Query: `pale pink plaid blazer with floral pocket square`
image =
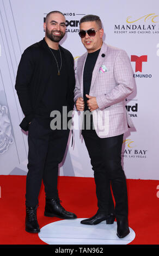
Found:
[[[102,57],[105,54],[104,57]],[[75,97],[83,97],[83,69],[87,52],[77,60]],[[125,99],[136,86],[130,59],[124,50],[103,42],[96,60],[90,86],[90,96],[95,96],[98,109],[92,112],[97,136],[100,138],[121,135],[134,127],[126,111]],[[80,111],[81,125],[83,112]],[[82,126],[81,126],[82,127]]]

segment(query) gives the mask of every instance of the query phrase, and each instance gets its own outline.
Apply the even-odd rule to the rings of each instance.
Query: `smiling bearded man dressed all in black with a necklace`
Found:
[[[44,29],[45,38],[23,52],[15,84],[25,115],[20,127],[28,131],[26,231],[30,233],[40,231],[36,209],[42,180],[46,194],[45,216],[76,218],[60,204],[57,190],[58,164],[63,160],[70,133],[66,125],[70,118],[65,115],[74,108],[74,58],[59,45],[65,35],[62,13],[47,14]],[[58,129],[51,126],[52,111],[60,113]]]

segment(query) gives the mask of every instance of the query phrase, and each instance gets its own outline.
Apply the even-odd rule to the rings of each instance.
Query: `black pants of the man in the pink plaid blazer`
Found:
[[[114,212],[112,186],[115,216],[117,220],[127,218],[127,186],[121,166],[123,135],[99,138],[95,130],[83,130],[82,135],[94,170],[98,211]]]

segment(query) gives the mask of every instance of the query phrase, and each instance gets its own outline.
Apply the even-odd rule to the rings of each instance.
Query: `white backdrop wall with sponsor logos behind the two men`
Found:
[[[59,10],[66,17],[66,35],[60,44],[71,51],[75,63],[85,52],[78,32],[79,20],[87,14],[100,16],[103,40],[129,55],[137,88],[125,103],[135,129],[124,136],[123,167],[128,179],[158,180],[158,0],[0,0],[0,8],[0,174],[27,174],[27,133],[19,126],[23,113],[15,91],[16,72],[23,51],[44,38],[46,14]],[[73,147],[71,139],[70,133],[59,175],[93,177],[79,138],[77,113]]]

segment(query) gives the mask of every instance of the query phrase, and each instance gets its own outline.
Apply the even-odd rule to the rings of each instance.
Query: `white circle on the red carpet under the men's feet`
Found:
[[[130,228],[130,234],[120,239],[117,236],[117,222],[84,225],[80,223],[82,220],[52,222],[40,229],[39,237],[48,245],[127,245],[135,237]]]

